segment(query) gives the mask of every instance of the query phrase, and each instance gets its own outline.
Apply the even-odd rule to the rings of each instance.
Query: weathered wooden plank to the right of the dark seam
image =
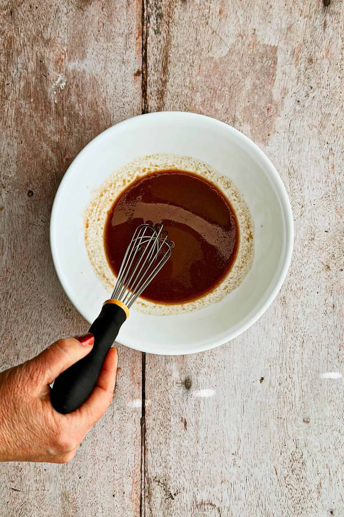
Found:
[[[145,515],[344,515],[343,3],[150,1],[147,105],[250,136],[290,195],[287,280],[226,346],[146,356]]]

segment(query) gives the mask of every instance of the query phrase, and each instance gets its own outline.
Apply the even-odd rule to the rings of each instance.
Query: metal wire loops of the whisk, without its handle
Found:
[[[174,247],[163,223],[137,227],[125,252],[111,298],[129,309],[171,256]]]

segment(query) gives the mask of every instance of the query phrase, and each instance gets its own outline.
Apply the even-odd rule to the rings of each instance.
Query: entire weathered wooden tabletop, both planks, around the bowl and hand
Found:
[[[241,337],[143,356],[142,433],[141,355],[120,348],[113,405],[73,462],[0,466],[0,515],[344,515],[344,384],[322,377],[344,373],[344,10],[325,3],[6,3],[3,368],[85,328],[52,266],[51,204],[77,152],[141,109],[251,136],[287,187],[296,238],[280,295]]]

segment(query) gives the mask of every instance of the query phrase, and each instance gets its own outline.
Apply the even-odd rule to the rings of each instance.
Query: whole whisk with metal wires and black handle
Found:
[[[129,307],[145,290],[171,256],[174,246],[162,223],[151,221],[136,229],[125,252],[112,297],[103,304],[90,327],[93,348],[64,370],[54,382],[51,402],[59,413],[75,411],[90,396],[110,346],[129,316]]]

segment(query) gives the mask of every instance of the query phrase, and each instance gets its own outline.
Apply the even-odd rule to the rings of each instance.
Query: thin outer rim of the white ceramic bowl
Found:
[[[135,119],[137,118],[150,118],[152,119],[152,123],[154,123],[154,119],[162,119],[169,116],[173,117],[181,117],[185,118],[188,117],[189,119],[198,119],[198,120],[205,120],[208,124],[213,125],[214,127],[220,127],[222,130],[228,131],[232,134],[234,134],[238,139],[241,140],[242,144],[247,147],[251,148],[255,155],[259,157],[261,164],[264,166],[265,172],[268,174],[269,179],[274,186],[276,193],[280,199],[281,202],[281,208],[284,216],[285,226],[286,226],[286,242],[285,242],[285,253],[283,257],[283,262],[281,265],[281,270],[279,276],[275,279],[275,283],[273,286],[271,286],[270,294],[267,296],[264,303],[257,308],[257,310],[250,316],[247,322],[243,323],[242,325],[239,325],[239,327],[232,331],[228,332],[227,336],[224,338],[214,339],[207,343],[206,345],[201,345],[197,347],[197,349],[191,349],[183,353],[183,355],[187,354],[194,354],[198,352],[204,352],[206,350],[215,348],[217,346],[223,345],[227,343],[228,341],[231,341],[232,339],[238,337],[240,334],[242,334],[245,330],[247,330],[249,327],[251,327],[259,318],[264,314],[264,312],[270,307],[272,301],[275,299],[276,295],[279,293],[283,282],[285,281],[285,278],[287,276],[287,272],[290,266],[291,262],[291,256],[292,256],[292,250],[293,250],[293,240],[294,240],[294,224],[293,224],[293,217],[292,217],[292,210],[291,210],[291,204],[289,200],[289,196],[287,194],[286,188],[283,184],[283,181],[275,169],[274,165],[270,161],[270,159],[266,156],[263,150],[258,147],[257,144],[255,144],[248,136],[244,135],[234,127],[230,126],[229,124],[226,124],[225,122],[222,122],[221,120],[218,120],[216,118],[209,117],[207,115],[201,115],[199,113],[192,113],[187,111],[160,111],[160,112],[154,112],[154,113],[145,113],[141,115],[136,115],[134,117],[127,118],[117,124],[114,124],[113,126],[110,126],[109,128],[102,131],[100,134],[95,136],[83,149],[79,151],[77,156],[73,159],[71,164],[69,165],[67,171],[64,173],[60,184],[57,188],[54,202],[52,206],[51,211],[51,218],[50,218],[50,247],[51,247],[51,253],[53,258],[53,264],[55,267],[55,271],[57,274],[57,277],[59,279],[59,282],[65,292],[65,294],[68,296],[69,300],[73,304],[73,306],[76,308],[76,310],[85,318],[87,321],[88,318],[84,314],[83,310],[78,307],[77,301],[74,300],[73,293],[71,292],[71,289],[69,287],[69,284],[64,279],[63,270],[60,267],[60,264],[57,260],[57,249],[54,242],[54,227],[56,226],[56,218],[57,218],[57,210],[58,205],[60,201],[60,197],[64,188],[64,185],[68,182],[69,177],[73,174],[73,170],[75,166],[78,164],[78,162],[82,159],[83,155],[90,150],[93,146],[97,144],[97,142],[104,138],[105,134],[109,134],[112,131],[118,131],[119,128],[122,130],[125,130],[126,127],[129,127],[131,124],[135,123]],[[115,129],[116,128],[116,129]],[[140,343],[135,343],[135,346],[128,343],[126,340],[119,340],[118,343],[127,346],[129,348],[133,348],[140,352],[146,352],[146,353],[152,353],[157,355],[181,355],[181,354],[171,354],[169,352],[164,352],[163,350],[159,349],[159,352],[156,352],[154,350],[148,351],[144,346],[140,347]],[[155,348],[155,343],[151,343],[152,347]],[[160,344],[161,346],[161,344]],[[189,345],[187,345],[189,346]]]

